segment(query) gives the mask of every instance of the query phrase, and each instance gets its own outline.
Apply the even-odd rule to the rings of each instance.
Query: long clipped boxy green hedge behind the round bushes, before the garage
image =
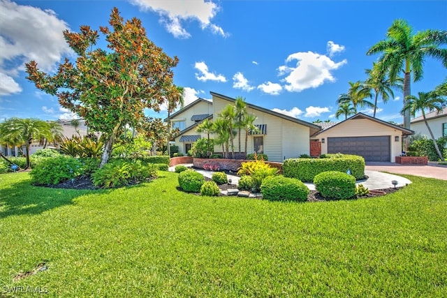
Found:
[[[365,177],[365,159],[348,154],[326,154],[326,158],[290,158],[282,165],[284,176],[312,182],[321,172],[351,171],[356,179]]]

